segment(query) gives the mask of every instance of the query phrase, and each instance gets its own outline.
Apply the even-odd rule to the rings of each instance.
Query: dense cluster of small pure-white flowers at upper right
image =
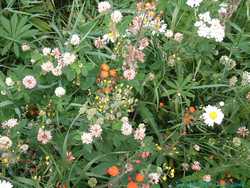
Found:
[[[225,26],[217,18],[211,18],[210,12],[199,14],[199,20],[195,22],[200,37],[214,39],[216,42],[222,42],[225,37]]]

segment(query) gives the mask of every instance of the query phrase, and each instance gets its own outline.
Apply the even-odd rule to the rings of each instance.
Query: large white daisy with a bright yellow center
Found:
[[[208,105],[202,114],[202,118],[208,126],[214,126],[214,124],[220,125],[223,121],[224,114],[221,109]]]

